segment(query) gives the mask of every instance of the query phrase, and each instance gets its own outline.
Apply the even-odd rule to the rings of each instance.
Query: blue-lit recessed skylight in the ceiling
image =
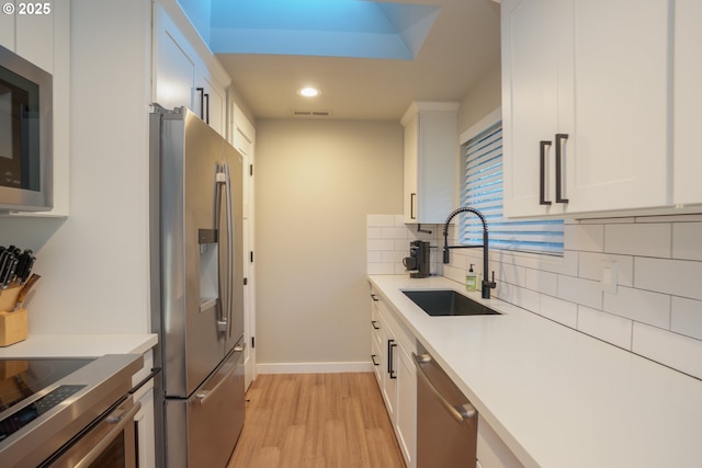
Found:
[[[179,0],[213,53],[411,60],[440,7],[364,0]]]

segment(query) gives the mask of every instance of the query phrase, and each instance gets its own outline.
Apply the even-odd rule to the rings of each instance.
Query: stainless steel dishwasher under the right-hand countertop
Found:
[[[475,468],[477,411],[418,343],[417,468]]]

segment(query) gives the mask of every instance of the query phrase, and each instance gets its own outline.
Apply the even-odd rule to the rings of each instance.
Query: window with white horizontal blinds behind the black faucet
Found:
[[[480,132],[461,146],[465,168],[462,206],[478,209],[487,220],[492,249],[563,255],[562,219],[513,220],[502,217],[502,122]],[[461,243],[483,242],[477,216],[462,216]]]

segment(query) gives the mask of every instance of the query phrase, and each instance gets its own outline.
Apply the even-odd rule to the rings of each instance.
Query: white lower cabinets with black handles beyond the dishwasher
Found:
[[[383,401],[408,468],[417,466],[415,336],[400,326],[377,292],[371,292],[371,359]]]

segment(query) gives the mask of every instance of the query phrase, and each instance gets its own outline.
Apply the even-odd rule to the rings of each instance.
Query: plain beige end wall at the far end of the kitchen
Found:
[[[258,364],[367,363],[366,215],[401,213],[400,124],[259,121],[256,161]]]

